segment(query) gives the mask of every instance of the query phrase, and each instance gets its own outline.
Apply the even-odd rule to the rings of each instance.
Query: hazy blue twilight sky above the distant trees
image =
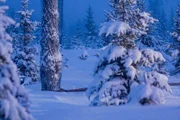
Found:
[[[175,11],[178,1],[164,0],[166,13],[169,14],[172,9]],[[20,0],[7,0],[11,10],[20,8]],[[94,12],[94,18],[97,24],[103,22],[104,10],[108,9],[108,0],[64,0],[64,21],[65,27],[68,28],[78,20],[83,20],[88,6],[91,5]],[[41,0],[29,0],[29,7],[34,9],[33,19],[41,20]]]

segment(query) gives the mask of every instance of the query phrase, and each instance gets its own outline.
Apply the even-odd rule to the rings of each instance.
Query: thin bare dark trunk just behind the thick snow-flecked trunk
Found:
[[[60,44],[62,44],[62,37],[63,37],[63,21],[64,21],[64,15],[63,15],[63,0],[59,0],[59,39],[60,39]]]

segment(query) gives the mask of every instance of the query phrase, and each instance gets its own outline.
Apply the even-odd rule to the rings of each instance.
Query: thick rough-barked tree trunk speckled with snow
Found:
[[[42,0],[42,39],[40,76],[42,90],[60,89],[62,58],[59,52],[58,0]]]

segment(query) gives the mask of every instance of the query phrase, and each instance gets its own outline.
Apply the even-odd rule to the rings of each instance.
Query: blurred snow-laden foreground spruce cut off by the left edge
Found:
[[[7,6],[0,6],[0,119],[33,120],[28,94],[20,85],[16,65],[11,60],[12,38],[6,28],[14,21],[5,15],[7,9]]]

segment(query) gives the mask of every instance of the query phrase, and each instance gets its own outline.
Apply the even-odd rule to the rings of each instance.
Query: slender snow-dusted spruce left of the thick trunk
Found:
[[[28,0],[21,0],[21,11],[15,26],[15,53],[13,61],[16,63],[22,83],[31,84],[38,81],[38,65],[35,62],[37,48],[33,45],[38,22],[31,21],[33,10],[28,10]]]

